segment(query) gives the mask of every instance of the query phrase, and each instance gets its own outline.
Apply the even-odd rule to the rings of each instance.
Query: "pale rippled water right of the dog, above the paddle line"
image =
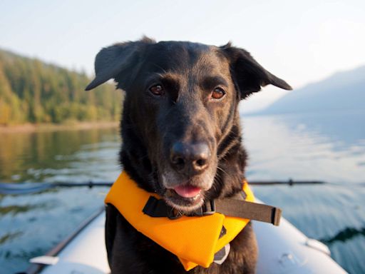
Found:
[[[255,179],[365,183],[365,111],[244,118]]]

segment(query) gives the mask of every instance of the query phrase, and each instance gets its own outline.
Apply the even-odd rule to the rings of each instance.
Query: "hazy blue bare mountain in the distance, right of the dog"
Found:
[[[291,91],[257,114],[365,109],[365,66]]]

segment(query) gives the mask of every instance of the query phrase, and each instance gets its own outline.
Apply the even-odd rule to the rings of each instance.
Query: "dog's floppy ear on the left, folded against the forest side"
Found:
[[[95,58],[95,79],[86,86],[85,90],[89,91],[120,73],[130,71],[137,63],[143,46],[152,43],[155,41],[143,37],[140,41],[114,44],[99,51]]]

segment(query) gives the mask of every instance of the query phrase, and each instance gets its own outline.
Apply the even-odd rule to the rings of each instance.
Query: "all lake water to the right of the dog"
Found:
[[[365,111],[243,117],[249,182],[330,183],[257,186],[254,191],[281,207],[307,236],[327,243],[332,257],[350,273],[365,272],[364,121]]]

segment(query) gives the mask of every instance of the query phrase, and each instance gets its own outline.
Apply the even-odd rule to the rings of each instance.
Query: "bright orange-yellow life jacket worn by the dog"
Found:
[[[246,193],[245,201],[255,200],[247,182],[243,184],[243,191]],[[185,270],[197,265],[208,268],[215,253],[230,243],[250,221],[221,213],[202,217],[182,216],[175,220],[153,218],[143,213],[150,196],[159,198],[157,194],[139,188],[123,171],[110,188],[105,203],[114,205],[140,233],[177,255]],[[226,233],[220,235],[223,226]]]

